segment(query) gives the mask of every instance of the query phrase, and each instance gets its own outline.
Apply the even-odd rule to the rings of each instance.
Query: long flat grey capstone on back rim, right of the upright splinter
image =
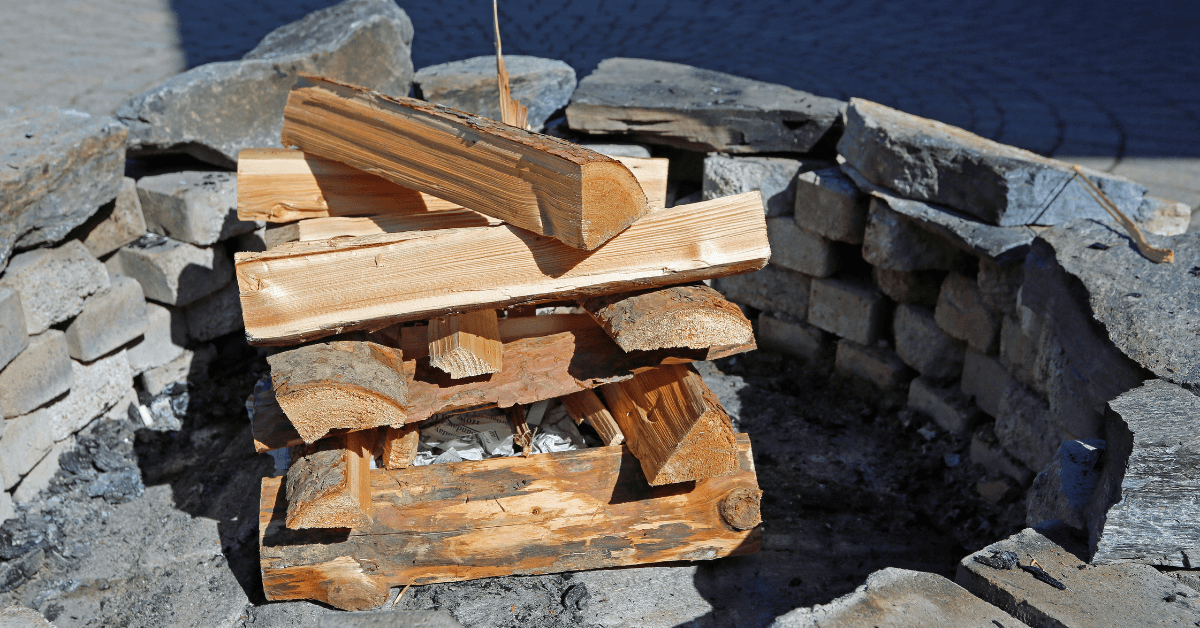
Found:
[[[844,102],[666,61],[605,59],[566,107],[572,130],[706,152],[809,152]]]

